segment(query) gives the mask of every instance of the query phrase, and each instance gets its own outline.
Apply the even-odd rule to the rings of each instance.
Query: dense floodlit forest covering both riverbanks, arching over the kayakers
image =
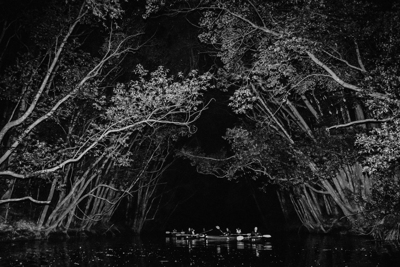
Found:
[[[193,194],[178,162],[308,232],[400,239],[398,1],[1,5],[3,233],[141,233]],[[215,149],[211,102],[236,117]]]

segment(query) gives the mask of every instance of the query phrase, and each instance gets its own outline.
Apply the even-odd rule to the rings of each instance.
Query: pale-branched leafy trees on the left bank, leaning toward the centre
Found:
[[[1,82],[9,108],[0,132],[0,175],[8,179],[0,204],[51,203],[34,215],[48,234],[70,226],[91,229],[103,218],[106,224],[123,197],[139,190],[138,184],[146,187],[146,173],[168,165],[161,144],[187,134],[184,129],[206,108],[201,96],[212,76],[192,71],[175,78],[162,67],[148,74],[139,65],[134,80],[122,81],[121,74],[130,71],[127,59],[145,43],[140,12],[119,20],[119,2],[108,0],[46,8],[54,17],[34,16],[37,28],[27,30],[32,48],[8,66]],[[44,32],[50,37],[41,38]],[[161,135],[168,127],[178,129]],[[146,146],[153,156],[141,159]],[[121,178],[119,170],[132,158],[148,165]],[[118,183],[124,178],[126,183]],[[15,186],[23,189],[18,197]],[[35,191],[36,199],[30,196]]]

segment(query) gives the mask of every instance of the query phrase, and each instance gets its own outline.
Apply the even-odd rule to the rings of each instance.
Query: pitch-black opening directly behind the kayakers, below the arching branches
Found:
[[[166,231],[187,227],[206,230],[216,225],[230,229],[236,227],[250,231],[254,226],[275,231],[282,224],[283,215],[274,190],[268,193],[255,191],[257,203],[248,181],[227,181],[212,175],[189,174],[195,194],[178,206],[167,223]],[[169,230],[171,229],[171,230]]]

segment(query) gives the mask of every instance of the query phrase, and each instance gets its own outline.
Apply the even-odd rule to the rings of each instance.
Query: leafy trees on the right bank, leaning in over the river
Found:
[[[201,40],[224,64],[220,85],[247,119],[227,132],[224,175],[289,187],[310,231],[344,219],[368,233],[378,222],[367,220],[374,185],[390,181],[385,174],[377,184],[376,171],[398,161],[398,4],[227,0],[183,10],[195,8]]]

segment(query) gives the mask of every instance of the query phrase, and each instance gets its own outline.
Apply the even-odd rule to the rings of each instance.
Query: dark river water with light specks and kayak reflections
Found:
[[[274,235],[268,241],[165,236],[0,243],[0,266],[400,266],[398,242],[362,237]]]

